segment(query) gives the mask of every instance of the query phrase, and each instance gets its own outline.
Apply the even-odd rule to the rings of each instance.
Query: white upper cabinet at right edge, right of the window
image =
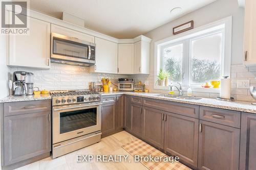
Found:
[[[256,1],[245,1],[244,65],[256,65]]]

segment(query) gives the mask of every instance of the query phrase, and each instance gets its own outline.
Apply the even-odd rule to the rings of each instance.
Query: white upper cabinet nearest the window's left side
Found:
[[[150,74],[150,42],[134,43],[134,74]]]

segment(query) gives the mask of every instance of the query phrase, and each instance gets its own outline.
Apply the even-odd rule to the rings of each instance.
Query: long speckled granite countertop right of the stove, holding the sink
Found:
[[[136,95],[136,96],[141,96],[144,98],[159,99],[159,100],[164,100],[164,101],[172,101],[172,102],[179,102],[179,103],[235,110],[235,111],[241,111],[241,112],[256,113],[256,106],[252,105],[251,102],[242,102],[242,101],[225,102],[225,101],[219,101],[219,100],[210,99],[210,98],[202,98],[200,100],[185,100],[185,99],[165,98],[165,97],[157,96],[157,94],[159,94],[159,93],[145,93],[145,92],[120,92],[120,91],[117,91],[117,92],[101,93],[102,96],[115,95],[115,94]]]

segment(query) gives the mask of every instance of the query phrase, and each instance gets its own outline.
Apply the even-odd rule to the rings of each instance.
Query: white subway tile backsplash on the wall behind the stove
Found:
[[[34,87],[47,90],[64,90],[64,89],[89,89],[89,84],[92,81],[101,85],[102,77],[108,77],[111,81],[117,84],[117,78],[129,77],[125,75],[112,74],[90,74],[89,67],[63,65],[51,63],[49,70],[10,67],[9,78],[12,79],[13,72],[23,70],[34,73]]]

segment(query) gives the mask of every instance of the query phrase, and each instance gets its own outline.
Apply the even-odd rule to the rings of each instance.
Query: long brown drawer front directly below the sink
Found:
[[[143,106],[199,118],[199,106],[196,105],[143,98]]]

